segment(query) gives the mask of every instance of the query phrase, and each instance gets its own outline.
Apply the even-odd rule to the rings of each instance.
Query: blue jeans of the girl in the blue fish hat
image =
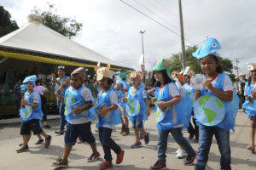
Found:
[[[230,154],[230,131],[225,131],[220,127],[207,127],[201,125],[199,127],[199,148],[197,153],[197,161],[195,170],[205,169],[208,161],[208,154],[212,144],[212,137],[218,143],[218,150],[220,152],[220,167],[224,170],[230,170],[231,154]]]

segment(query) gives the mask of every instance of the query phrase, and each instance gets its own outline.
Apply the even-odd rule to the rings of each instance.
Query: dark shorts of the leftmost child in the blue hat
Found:
[[[31,131],[34,135],[43,133],[39,119],[32,119],[29,122],[21,122],[20,135],[29,135]]]

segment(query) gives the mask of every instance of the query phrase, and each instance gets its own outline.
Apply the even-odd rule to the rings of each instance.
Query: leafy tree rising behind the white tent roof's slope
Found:
[[[42,11],[41,9],[34,7],[31,14],[36,14],[42,17],[42,24],[49,28],[61,33],[63,36],[72,38],[75,37],[79,31],[81,31],[83,24],[77,22],[74,19],[62,17],[55,14],[57,9],[54,4],[49,4],[48,10]]]

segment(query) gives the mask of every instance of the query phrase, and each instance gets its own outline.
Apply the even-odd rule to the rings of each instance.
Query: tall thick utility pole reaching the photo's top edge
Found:
[[[186,51],[185,51],[185,42],[184,42],[184,31],[183,31],[183,10],[181,0],[178,0],[179,7],[179,24],[180,24],[180,37],[182,45],[182,67],[183,70],[186,68]]]

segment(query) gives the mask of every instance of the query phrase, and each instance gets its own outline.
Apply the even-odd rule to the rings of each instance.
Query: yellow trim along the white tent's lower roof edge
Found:
[[[77,63],[72,61],[66,61],[61,59],[49,59],[45,57],[40,57],[36,55],[30,55],[30,54],[16,54],[16,53],[10,53],[0,50],[0,54],[3,55],[3,57],[12,58],[12,59],[22,59],[22,60],[29,60],[29,61],[35,61],[39,63],[48,63],[48,64],[55,64],[55,65],[70,65],[70,66],[83,66],[83,67],[95,67],[96,65],[88,65],[83,63]],[[119,71],[120,69],[117,68],[110,68],[114,71]]]

